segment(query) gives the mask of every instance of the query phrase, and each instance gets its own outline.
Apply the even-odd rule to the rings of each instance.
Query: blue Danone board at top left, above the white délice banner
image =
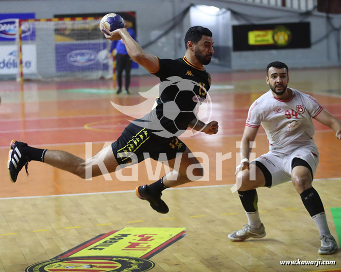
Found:
[[[0,41],[14,41],[17,32],[15,19],[34,19],[35,13],[0,13]],[[32,22],[22,22],[22,40],[34,40],[35,28]]]

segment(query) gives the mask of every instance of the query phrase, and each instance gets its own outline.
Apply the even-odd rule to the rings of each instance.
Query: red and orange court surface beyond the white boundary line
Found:
[[[329,70],[318,71],[321,78],[324,75],[327,77]],[[315,72],[316,70],[311,70],[311,73]],[[301,76],[290,78],[289,86],[310,93],[328,111],[340,118],[341,97],[330,92],[330,89],[314,85],[318,79],[308,74],[309,72],[305,72]],[[146,98],[138,92],[148,91],[158,82],[153,76],[133,77],[132,94],[129,96],[115,94],[110,80],[25,82],[23,86],[14,81],[2,82],[0,162],[3,170],[0,177],[3,190],[0,197],[133,190],[136,185],[149,183],[148,171],[143,163],[138,166],[136,181],[121,182],[112,175],[112,181],[98,177],[90,182],[51,166],[30,162],[30,177],[26,177],[25,171],[21,171],[18,182],[12,184],[8,178],[7,156],[12,139],[25,141],[32,146],[65,150],[82,158],[85,158],[85,142],[91,142],[92,154],[95,154],[102,149],[105,142],[115,141],[129,120],[134,119],[117,111],[110,102],[134,106],[135,113],[143,116],[147,111],[145,107],[142,109],[138,105],[146,101]],[[204,152],[208,155],[208,180],[183,186],[234,184],[238,152],[236,142],[241,139],[249,106],[267,90],[263,71],[212,74],[209,91],[213,106],[211,118],[220,123],[219,132],[216,135],[200,133],[182,139],[192,152]],[[315,178],[339,178],[337,161],[341,142],[335,139],[334,132],[329,128],[318,122],[314,123],[315,142],[320,150],[320,164]],[[260,129],[254,151],[259,156],[267,152],[267,148],[265,133]],[[232,158],[218,167],[216,154],[229,152]],[[203,160],[202,162],[205,163]],[[156,163],[153,162],[152,165],[155,166]],[[217,168],[222,169],[217,171]]]

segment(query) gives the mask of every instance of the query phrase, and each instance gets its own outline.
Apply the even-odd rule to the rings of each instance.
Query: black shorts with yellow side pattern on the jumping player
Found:
[[[172,160],[177,153],[184,153],[187,146],[177,137],[163,138],[152,131],[130,123],[121,136],[111,144],[118,164],[138,163],[148,157]],[[145,154],[143,154],[145,153]]]

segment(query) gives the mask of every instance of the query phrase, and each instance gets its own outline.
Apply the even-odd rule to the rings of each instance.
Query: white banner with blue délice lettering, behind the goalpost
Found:
[[[37,72],[37,48],[35,44],[22,45],[23,73]],[[16,45],[0,45],[0,75],[16,75],[18,60]]]

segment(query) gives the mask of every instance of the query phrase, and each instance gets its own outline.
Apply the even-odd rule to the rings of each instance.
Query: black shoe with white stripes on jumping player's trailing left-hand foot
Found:
[[[8,172],[11,182],[16,182],[21,168],[25,165],[27,176],[29,176],[28,165],[30,159],[22,152],[22,147],[27,146],[25,142],[12,140],[10,144],[10,152],[8,154]]]

